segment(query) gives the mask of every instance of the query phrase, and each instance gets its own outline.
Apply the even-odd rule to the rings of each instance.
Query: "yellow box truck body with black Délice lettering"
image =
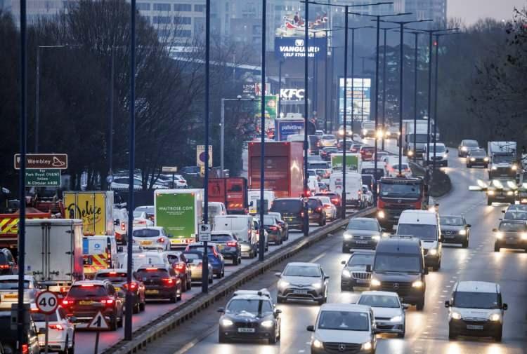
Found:
[[[66,191],[66,219],[81,219],[84,236],[114,235],[113,191]]]

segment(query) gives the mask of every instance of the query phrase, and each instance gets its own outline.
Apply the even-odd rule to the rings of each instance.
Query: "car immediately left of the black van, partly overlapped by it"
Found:
[[[344,264],[340,277],[340,290],[353,292],[356,287],[369,287],[372,273],[366,271],[367,266],[373,265],[374,251],[360,250],[354,252]]]

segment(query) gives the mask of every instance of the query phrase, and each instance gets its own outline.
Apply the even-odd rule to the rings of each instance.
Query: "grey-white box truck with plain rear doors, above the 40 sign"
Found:
[[[82,226],[81,219],[26,220],[24,274],[38,282],[56,282],[49,290],[61,294],[74,281],[84,280]]]

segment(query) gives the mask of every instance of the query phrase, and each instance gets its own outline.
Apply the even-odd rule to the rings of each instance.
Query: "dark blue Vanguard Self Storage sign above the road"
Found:
[[[275,55],[281,58],[303,58],[306,53],[305,40],[301,38],[275,37]],[[323,59],[326,54],[325,38],[310,38],[308,43],[308,57]]]

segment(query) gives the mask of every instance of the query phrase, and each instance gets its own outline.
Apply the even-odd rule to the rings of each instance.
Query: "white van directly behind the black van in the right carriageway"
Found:
[[[398,235],[414,236],[421,240],[424,254],[424,265],[434,271],[441,268],[441,225],[439,215],[430,210],[404,210],[397,224]]]

